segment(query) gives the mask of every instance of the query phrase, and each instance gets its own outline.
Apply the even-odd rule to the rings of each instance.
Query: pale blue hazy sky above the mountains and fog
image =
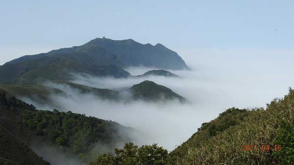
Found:
[[[199,47],[293,49],[293,6],[293,0],[1,0],[0,65],[103,36],[161,43],[181,56]]]

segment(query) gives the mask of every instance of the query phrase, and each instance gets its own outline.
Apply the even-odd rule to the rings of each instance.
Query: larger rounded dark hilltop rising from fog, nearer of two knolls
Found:
[[[172,92],[171,89],[148,80],[132,86],[130,91],[135,99],[152,101],[178,99],[181,102],[186,101],[184,97]]]

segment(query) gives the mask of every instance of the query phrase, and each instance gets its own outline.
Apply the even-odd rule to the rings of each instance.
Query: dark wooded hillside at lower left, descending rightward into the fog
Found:
[[[0,93],[0,125],[27,144],[50,144],[84,161],[131,141],[127,132],[133,131],[116,122],[70,111],[36,110],[4,93]]]

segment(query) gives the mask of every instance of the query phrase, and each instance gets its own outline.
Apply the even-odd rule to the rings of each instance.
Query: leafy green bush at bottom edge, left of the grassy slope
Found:
[[[123,149],[115,149],[113,154],[103,154],[89,165],[167,165],[168,151],[157,144],[138,147],[125,143]]]

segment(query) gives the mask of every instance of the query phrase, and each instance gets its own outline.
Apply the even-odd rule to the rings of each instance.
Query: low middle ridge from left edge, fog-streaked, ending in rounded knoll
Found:
[[[155,84],[152,81],[144,81],[140,84],[134,85],[131,88],[131,97],[121,95],[122,92],[129,91],[127,89],[122,91],[115,91],[110,89],[100,89],[89,87],[81,84],[72,83],[69,81],[62,80],[51,80],[44,84],[37,85],[0,85],[0,92],[5,92],[8,96],[16,96],[17,98],[26,97],[34,102],[40,104],[49,104],[54,108],[60,108],[58,105],[54,104],[51,96],[58,94],[63,97],[75,97],[72,93],[66,93],[63,91],[63,87],[58,87],[56,85],[69,86],[72,89],[78,90],[81,94],[94,94],[100,99],[109,99],[116,101],[130,101],[132,98],[141,98],[149,101],[156,101],[158,99],[168,100],[171,98],[176,98],[181,101],[185,100],[182,96],[175,94],[169,88]],[[138,97],[139,96],[139,97]]]

